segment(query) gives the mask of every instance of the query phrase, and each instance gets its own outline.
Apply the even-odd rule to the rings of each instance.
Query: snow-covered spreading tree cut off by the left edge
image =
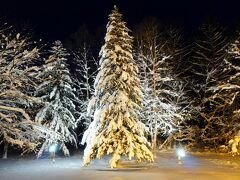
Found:
[[[36,150],[40,136],[30,113],[39,100],[32,96],[34,66],[39,49],[28,37],[13,33],[11,28],[0,30],[0,136],[4,142],[4,158],[9,145],[23,152]]]

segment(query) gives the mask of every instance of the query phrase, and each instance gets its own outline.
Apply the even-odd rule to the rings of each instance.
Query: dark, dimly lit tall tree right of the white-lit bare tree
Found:
[[[212,24],[203,24],[199,28],[199,35],[193,48],[193,56],[190,59],[189,74],[192,83],[190,89],[195,107],[195,124],[192,137],[193,146],[199,148],[216,148],[225,139],[226,112],[214,101],[217,84],[226,76],[224,59],[227,55],[227,38],[221,27]]]

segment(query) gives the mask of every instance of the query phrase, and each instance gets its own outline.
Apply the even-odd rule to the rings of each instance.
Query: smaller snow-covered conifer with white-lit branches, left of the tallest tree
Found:
[[[77,144],[74,129],[75,102],[78,102],[78,99],[72,89],[72,80],[66,66],[66,49],[60,41],[56,41],[50,53],[44,70],[39,75],[42,83],[36,91],[36,96],[45,101],[46,105],[35,119],[56,134],[49,135],[44,140],[38,156],[51,144],[58,144],[64,155],[69,155],[66,143]]]

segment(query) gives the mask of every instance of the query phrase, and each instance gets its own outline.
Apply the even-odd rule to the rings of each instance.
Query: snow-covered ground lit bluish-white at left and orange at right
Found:
[[[108,168],[107,159],[82,167],[82,156],[49,159],[18,158],[0,160],[0,180],[239,180],[240,157],[192,154],[178,164],[173,153],[160,153],[155,163],[136,165],[122,162]]]

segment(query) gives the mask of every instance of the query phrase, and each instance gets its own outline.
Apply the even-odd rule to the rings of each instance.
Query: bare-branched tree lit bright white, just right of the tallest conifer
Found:
[[[171,144],[173,134],[182,128],[188,103],[183,82],[173,73],[172,62],[179,61],[176,56],[181,53],[176,48],[175,39],[179,38],[176,32],[173,31],[176,36],[173,42],[166,40],[156,19],[148,18],[138,26],[135,35],[135,56],[144,93],[141,120],[147,126],[153,152],[156,152],[157,136],[168,137],[161,147],[167,142]]]

